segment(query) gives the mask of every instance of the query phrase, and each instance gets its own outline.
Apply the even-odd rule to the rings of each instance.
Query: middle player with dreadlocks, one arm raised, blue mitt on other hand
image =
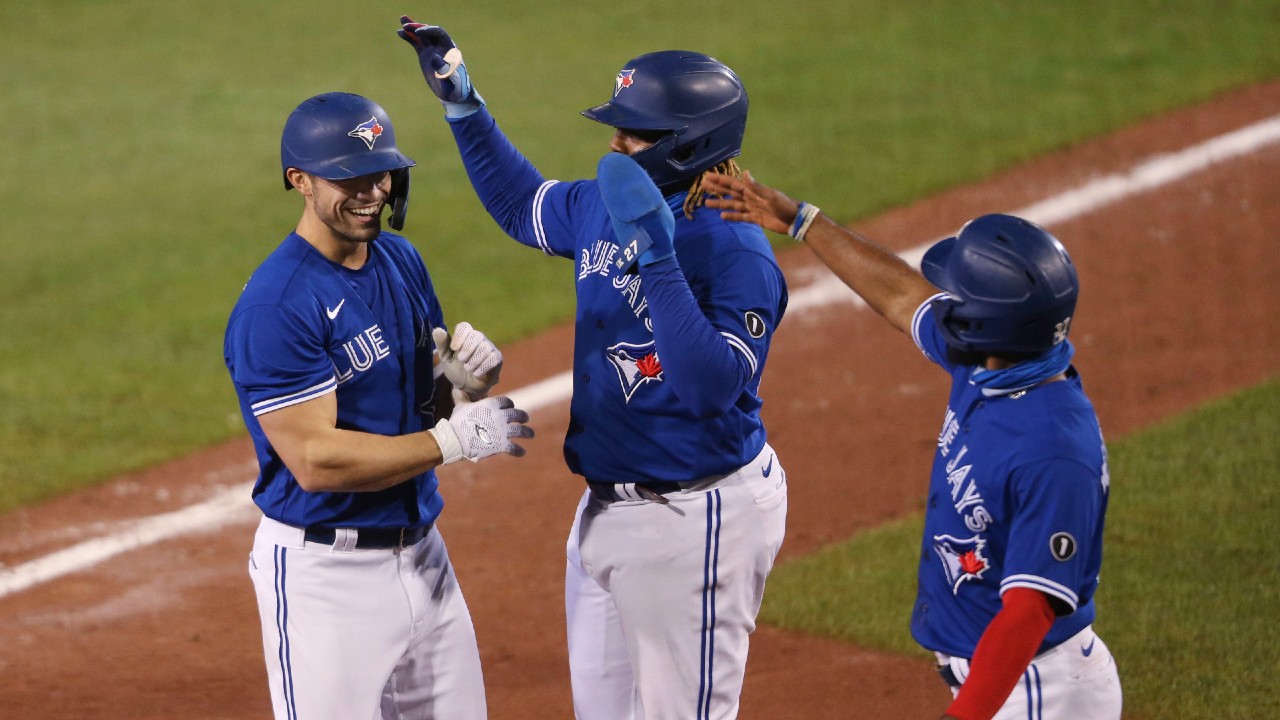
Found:
[[[787,501],[759,397],[786,282],[758,227],[700,206],[703,173],[736,167],[742,83],[699,53],[635,58],[582,113],[616,128],[598,177],[558,182],[507,141],[449,36],[401,22],[484,206],[576,264],[564,459],[586,488],[564,592],[577,717],[735,717]]]

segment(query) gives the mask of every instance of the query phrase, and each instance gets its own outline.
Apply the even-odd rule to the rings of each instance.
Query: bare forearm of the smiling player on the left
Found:
[[[307,492],[374,492],[440,461],[440,447],[429,432],[389,437],[334,429],[306,442],[301,456],[285,465]]]

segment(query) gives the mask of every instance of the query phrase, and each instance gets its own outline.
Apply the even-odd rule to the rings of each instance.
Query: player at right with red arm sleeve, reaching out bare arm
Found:
[[[704,186],[724,218],[809,245],[951,375],[911,616],[956,696],[945,717],[1119,719],[1120,679],[1092,626],[1107,455],[1071,366],[1079,282],[1062,245],[983,215],[933,245],[922,275],[750,174]]]

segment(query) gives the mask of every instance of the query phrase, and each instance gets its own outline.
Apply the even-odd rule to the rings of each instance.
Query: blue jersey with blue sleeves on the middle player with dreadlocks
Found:
[[[676,215],[677,261],[617,268],[618,241],[594,179],[544,179],[488,110],[451,119],[480,200],[520,242],[575,261],[570,470],[590,480],[691,480],[759,454],[760,375],[786,310],[764,232],[700,208]]]

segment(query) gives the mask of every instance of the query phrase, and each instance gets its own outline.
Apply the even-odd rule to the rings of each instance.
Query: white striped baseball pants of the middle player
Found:
[[[564,610],[579,720],[737,716],[748,637],[782,547],[786,473],[765,445],[722,478],[649,500],[582,496]]]

